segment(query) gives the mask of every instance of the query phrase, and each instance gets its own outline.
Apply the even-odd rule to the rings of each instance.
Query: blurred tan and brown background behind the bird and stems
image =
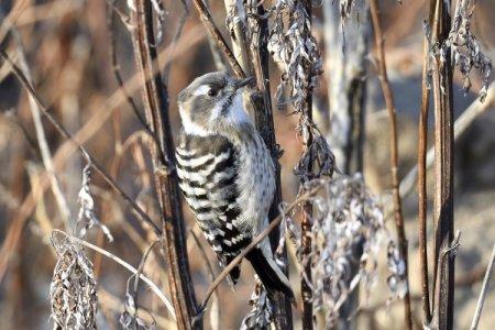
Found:
[[[108,2],[2,0],[0,47],[8,52],[18,65],[24,57],[33,86],[44,103],[50,106],[53,116],[86,145],[120,187],[158,222],[153,179],[150,176],[150,153],[142,134],[143,127],[125,98],[117,92],[119,85],[114,77],[112,44],[122,80],[130,81],[135,74],[130,37],[132,25],[125,22],[128,15],[125,1],[117,1],[114,9],[111,9],[113,20],[109,29]],[[189,6],[189,13],[185,14],[180,1],[163,2],[165,9],[163,37],[156,47],[161,54],[162,68],[166,67],[164,73],[169,75],[167,89],[170,130],[176,132],[178,91],[195,77],[217,68],[207,31],[195,9]],[[228,36],[222,1],[210,2],[215,21],[221,26],[223,35]],[[327,72],[331,69],[329,67],[331,63],[327,63],[326,59],[342,50],[326,47],[328,15],[323,14],[323,4],[317,2],[314,10],[314,33],[321,47]],[[336,12],[339,11],[337,2],[328,4]],[[404,0],[402,4],[386,0],[381,1],[381,6],[388,75],[398,112],[399,176],[403,178],[417,162],[422,21],[427,18],[428,6],[424,0]],[[493,0],[476,1],[472,29],[484,53],[491,58],[495,58],[494,13]],[[185,20],[184,29],[176,38],[182,20]],[[371,189],[386,198],[389,196],[391,187],[388,118],[371,55],[366,67],[363,172]],[[279,81],[279,73],[274,64],[271,70],[272,94],[274,94]],[[470,105],[477,102],[482,79],[475,73],[471,78],[473,86],[471,91],[464,95],[462,77],[458,72],[454,74],[455,118]],[[323,74],[315,91],[315,111],[322,117],[319,120],[323,132],[328,130],[324,114],[328,113],[327,99],[331,84],[329,76]],[[141,94],[138,88],[130,90],[130,94],[142,113]],[[487,101],[483,113],[455,141],[455,228],[462,230],[461,248],[455,260],[458,329],[468,328],[471,322],[490,252],[495,242],[495,111],[493,98]],[[290,112],[288,107],[274,110],[277,142],[285,151],[280,164],[286,201],[290,201],[298,190],[299,180],[294,175],[293,168],[301,152],[296,132],[297,117],[289,116]],[[9,66],[2,63],[0,65],[1,329],[52,328],[48,293],[56,255],[51,245],[50,234],[53,229],[70,231],[79,210],[78,193],[85,160],[74,152],[50,122],[42,119],[42,123],[62,194],[67,201],[70,216],[66,219],[59,211],[56,196],[44,178],[43,161],[37,146],[38,138],[28,94],[10,74]],[[429,191],[432,191],[431,173],[429,172]],[[114,240],[110,243],[97,229],[89,230],[87,240],[138,267],[143,251],[155,239],[152,231],[140,224],[120,197],[97,174],[92,174],[91,193],[95,197],[97,216],[110,229]],[[184,208],[184,211],[188,230],[195,230],[191,213],[187,208]],[[416,188],[404,198],[404,215],[406,234],[409,239],[413,307],[417,320],[420,320]],[[392,221],[389,228],[395,233]],[[206,246],[202,237],[199,238],[200,243]],[[198,245],[190,234],[188,249],[194,283],[200,299],[210,283],[210,277],[206,271],[205,258],[198,253]],[[205,251],[215,273],[218,274],[219,267],[213,254],[209,249]],[[95,265],[98,282],[98,324],[101,329],[118,329],[127,282],[131,274],[100,254],[92,251],[87,251],[87,254]],[[166,266],[160,253],[152,253],[144,273],[158,286],[164,287],[167,294],[165,272]],[[292,272],[297,274],[296,268]],[[227,283],[222,284],[218,306],[210,308],[212,312],[218,308],[221,329],[238,328],[250,309],[248,299],[253,280],[251,267],[245,263],[242,274],[235,293]],[[297,276],[293,277],[294,287],[297,287],[298,292]],[[493,329],[495,326],[494,280],[492,278],[481,329]],[[386,290],[383,284],[378,283],[370,297],[362,298],[363,308],[358,314],[360,328],[399,329],[397,324],[402,324],[402,304],[393,304],[389,308],[385,308],[383,302],[386,299]],[[140,295],[140,304],[160,316],[156,317],[158,328],[172,327],[169,315],[161,306],[160,300],[145,288]],[[296,324],[297,319],[296,314]],[[210,327],[208,321],[205,324],[207,328]],[[416,323],[416,327],[419,326],[420,323]]]

